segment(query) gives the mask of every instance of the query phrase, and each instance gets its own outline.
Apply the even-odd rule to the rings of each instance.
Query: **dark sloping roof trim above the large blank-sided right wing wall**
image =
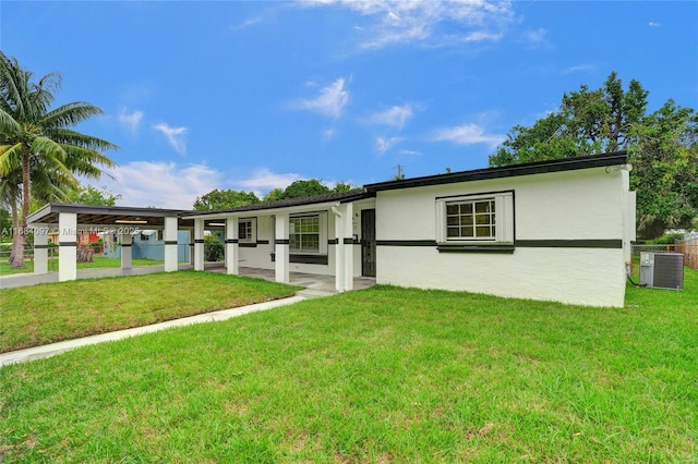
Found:
[[[365,185],[369,193],[393,191],[398,188],[423,187],[428,185],[454,184],[458,182],[484,181],[491,179],[514,178],[517,175],[544,174],[550,172],[574,171],[578,169],[603,168],[607,166],[625,164],[627,154],[616,151],[603,155],[588,155],[552,161],[528,162],[524,164],[505,166],[498,168],[476,169],[472,171],[452,172],[448,174],[428,175],[423,178],[405,179]]]

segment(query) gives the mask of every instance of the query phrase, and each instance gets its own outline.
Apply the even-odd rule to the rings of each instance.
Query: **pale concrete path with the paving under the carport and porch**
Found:
[[[188,265],[183,265],[180,267],[181,269],[188,269]],[[214,272],[225,272],[225,268],[220,268],[219,266],[210,266],[206,268],[207,270]],[[144,273],[152,272],[163,272],[163,266],[147,266],[147,267],[139,267],[133,269],[83,269],[79,271],[79,279],[89,279],[97,277],[116,277],[116,276],[137,276]],[[274,280],[274,271],[267,269],[256,269],[256,268],[240,268],[241,276],[248,277],[256,277],[266,280]],[[46,277],[49,276],[53,280],[46,280]],[[44,278],[35,279],[35,278]],[[0,278],[0,288],[5,289],[10,286],[25,286],[25,285],[35,285],[38,283],[49,283],[57,282],[58,273],[49,273],[44,276],[35,276],[35,274],[15,274]],[[11,282],[14,283],[12,285],[7,285],[5,283]],[[202,322],[215,322],[218,320],[230,319],[231,317],[242,316],[244,314],[267,310],[272,308],[276,308],[279,306],[290,305],[293,303],[301,302],[308,298],[316,298],[322,296],[330,296],[336,294],[335,292],[335,277],[334,276],[321,276],[313,273],[304,273],[304,272],[291,272],[290,273],[290,284],[304,286],[305,290],[297,292],[296,296],[291,296],[289,298],[284,300],[275,300],[266,303],[258,303],[255,305],[242,306],[238,308],[230,309],[221,309],[212,313],[200,314],[196,316],[184,317],[181,319],[168,320],[165,322],[154,323],[151,326],[144,327],[135,327],[133,329],[119,330],[116,332],[109,333],[100,333],[98,335],[84,337],[82,339],[75,340],[67,340],[63,342],[52,343],[44,346],[34,346],[31,349],[19,350],[9,353],[0,353],[0,368],[2,366],[7,366],[10,364],[16,363],[25,363],[33,359],[39,359],[44,357],[53,356],[60,353],[64,353],[70,350],[74,350],[80,346],[92,345],[101,342],[121,340],[129,337],[136,337],[143,333],[156,332],[163,329],[169,329],[172,327],[183,327],[191,326],[192,323],[202,323]],[[371,278],[356,278],[354,279],[354,289],[365,289],[375,284],[375,279]]]

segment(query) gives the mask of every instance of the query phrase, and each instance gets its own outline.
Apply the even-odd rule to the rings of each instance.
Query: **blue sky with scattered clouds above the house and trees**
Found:
[[[0,48],[105,115],[119,205],[189,209],[484,168],[507,132],[612,71],[698,108],[698,2],[0,3]]]

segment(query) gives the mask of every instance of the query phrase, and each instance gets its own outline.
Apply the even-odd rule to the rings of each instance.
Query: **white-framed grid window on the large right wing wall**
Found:
[[[436,199],[437,242],[486,244],[514,242],[514,193]]]

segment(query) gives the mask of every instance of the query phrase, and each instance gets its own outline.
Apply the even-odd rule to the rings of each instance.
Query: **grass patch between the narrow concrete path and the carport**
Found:
[[[194,271],[4,289],[0,352],[276,300],[298,289]]]

